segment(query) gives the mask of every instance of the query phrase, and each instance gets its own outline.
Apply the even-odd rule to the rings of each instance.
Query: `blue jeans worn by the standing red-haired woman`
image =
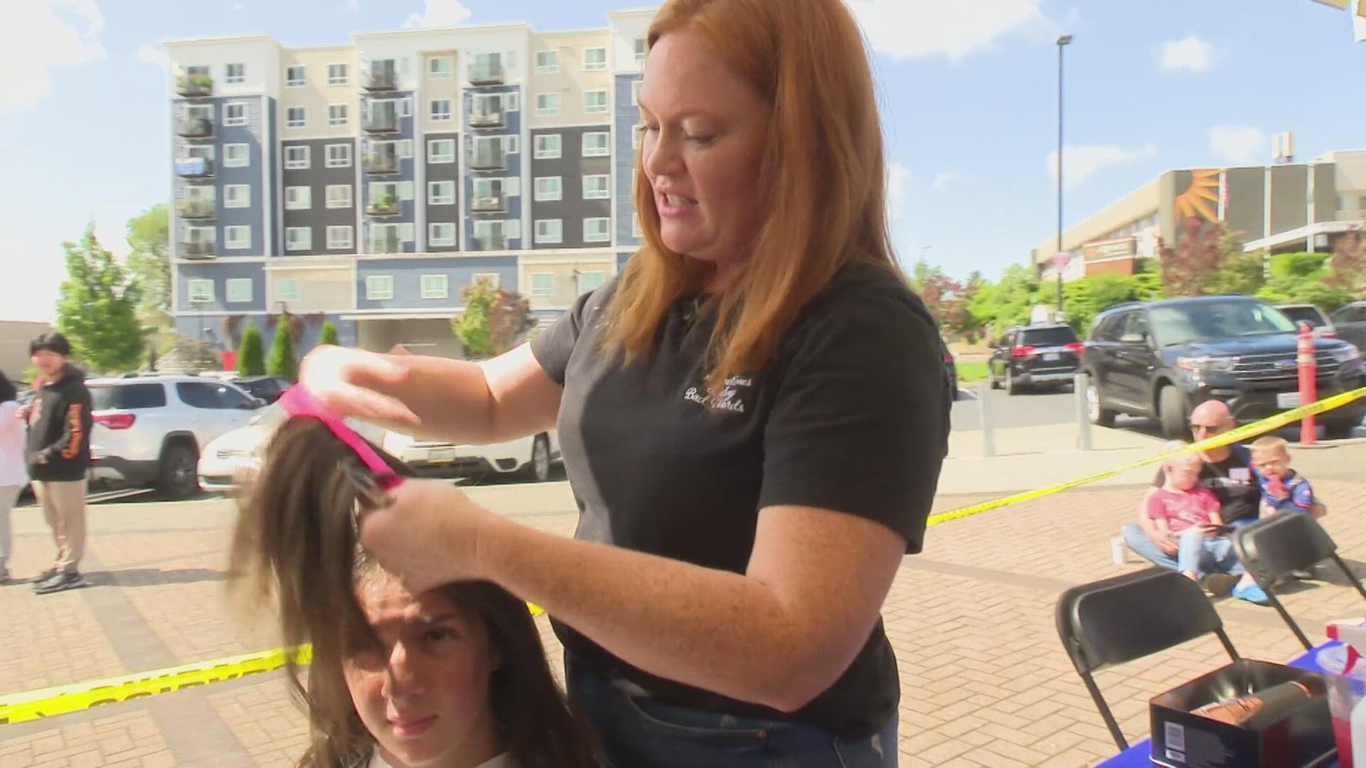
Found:
[[[568,657],[564,675],[609,768],[896,768],[895,715],[872,738],[843,739],[805,723],[660,704]]]

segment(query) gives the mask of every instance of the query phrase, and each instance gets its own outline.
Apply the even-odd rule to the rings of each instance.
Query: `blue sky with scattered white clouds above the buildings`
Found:
[[[785,0],[772,0],[785,1]],[[904,265],[989,279],[1056,228],[1057,46],[1064,220],[1168,168],[1366,149],[1366,42],[1311,0],[847,0],[873,55]],[[161,40],[526,20],[607,25],[643,0],[8,0],[0,15],[0,318],[51,320],[61,242],[87,221],[116,254],[169,197]]]

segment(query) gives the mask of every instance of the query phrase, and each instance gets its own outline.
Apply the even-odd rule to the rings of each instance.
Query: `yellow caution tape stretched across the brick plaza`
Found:
[[[1201,440],[1199,443],[1153,454],[1152,456],[1146,456],[1115,469],[1108,469],[1105,471],[1098,471],[1076,480],[1068,480],[1067,482],[1059,482],[1056,485],[1049,485],[1048,488],[1024,491],[1022,493],[1015,493],[1014,496],[1005,496],[1004,499],[996,499],[993,502],[984,502],[981,504],[973,504],[971,507],[930,515],[929,525],[938,525],[941,522],[977,515],[1007,504],[1027,502],[1050,493],[1059,493],[1061,491],[1067,491],[1068,488],[1076,488],[1078,485],[1086,485],[1087,482],[1094,482],[1105,477],[1113,477],[1131,469],[1161,462],[1180,454],[1208,451],[1210,448],[1238,443],[1264,432],[1280,429],[1281,426],[1299,421],[1306,415],[1315,415],[1343,407],[1347,403],[1363,396],[1366,396],[1366,387],[1333,395],[1332,398],[1325,398],[1315,403],[1300,406],[1246,426],[1239,426],[1231,432],[1217,435],[1208,440]],[[533,616],[545,612],[540,605],[534,605],[531,603],[527,603],[527,608],[531,611]],[[171,667],[168,670],[156,670],[152,672],[139,672],[102,681],[46,687],[12,696],[0,696],[0,726],[5,723],[37,720],[38,717],[51,717],[53,715],[66,715],[68,712],[78,712],[101,704],[113,704],[116,701],[127,701],[130,698],[139,698],[157,693],[169,693],[172,690],[180,690],[210,682],[229,681],[245,675],[269,672],[284,667],[287,655],[288,649],[276,648],[273,650],[231,656],[228,659],[197,661],[180,667]],[[311,657],[313,649],[307,645],[295,650],[295,660],[299,664],[307,664]]]

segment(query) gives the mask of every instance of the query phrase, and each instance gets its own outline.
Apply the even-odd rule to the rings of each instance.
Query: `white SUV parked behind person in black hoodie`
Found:
[[[199,491],[199,448],[265,404],[227,381],[198,376],[90,379],[90,477],[153,485],[171,499]]]

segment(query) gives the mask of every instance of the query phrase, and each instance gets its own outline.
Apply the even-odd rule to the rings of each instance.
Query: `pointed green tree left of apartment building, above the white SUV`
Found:
[[[57,299],[57,331],[71,340],[71,351],[93,372],[135,369],[142,358],[138,323],[138,283],[86,225],[79,243],[61,243],[67,279]]]

